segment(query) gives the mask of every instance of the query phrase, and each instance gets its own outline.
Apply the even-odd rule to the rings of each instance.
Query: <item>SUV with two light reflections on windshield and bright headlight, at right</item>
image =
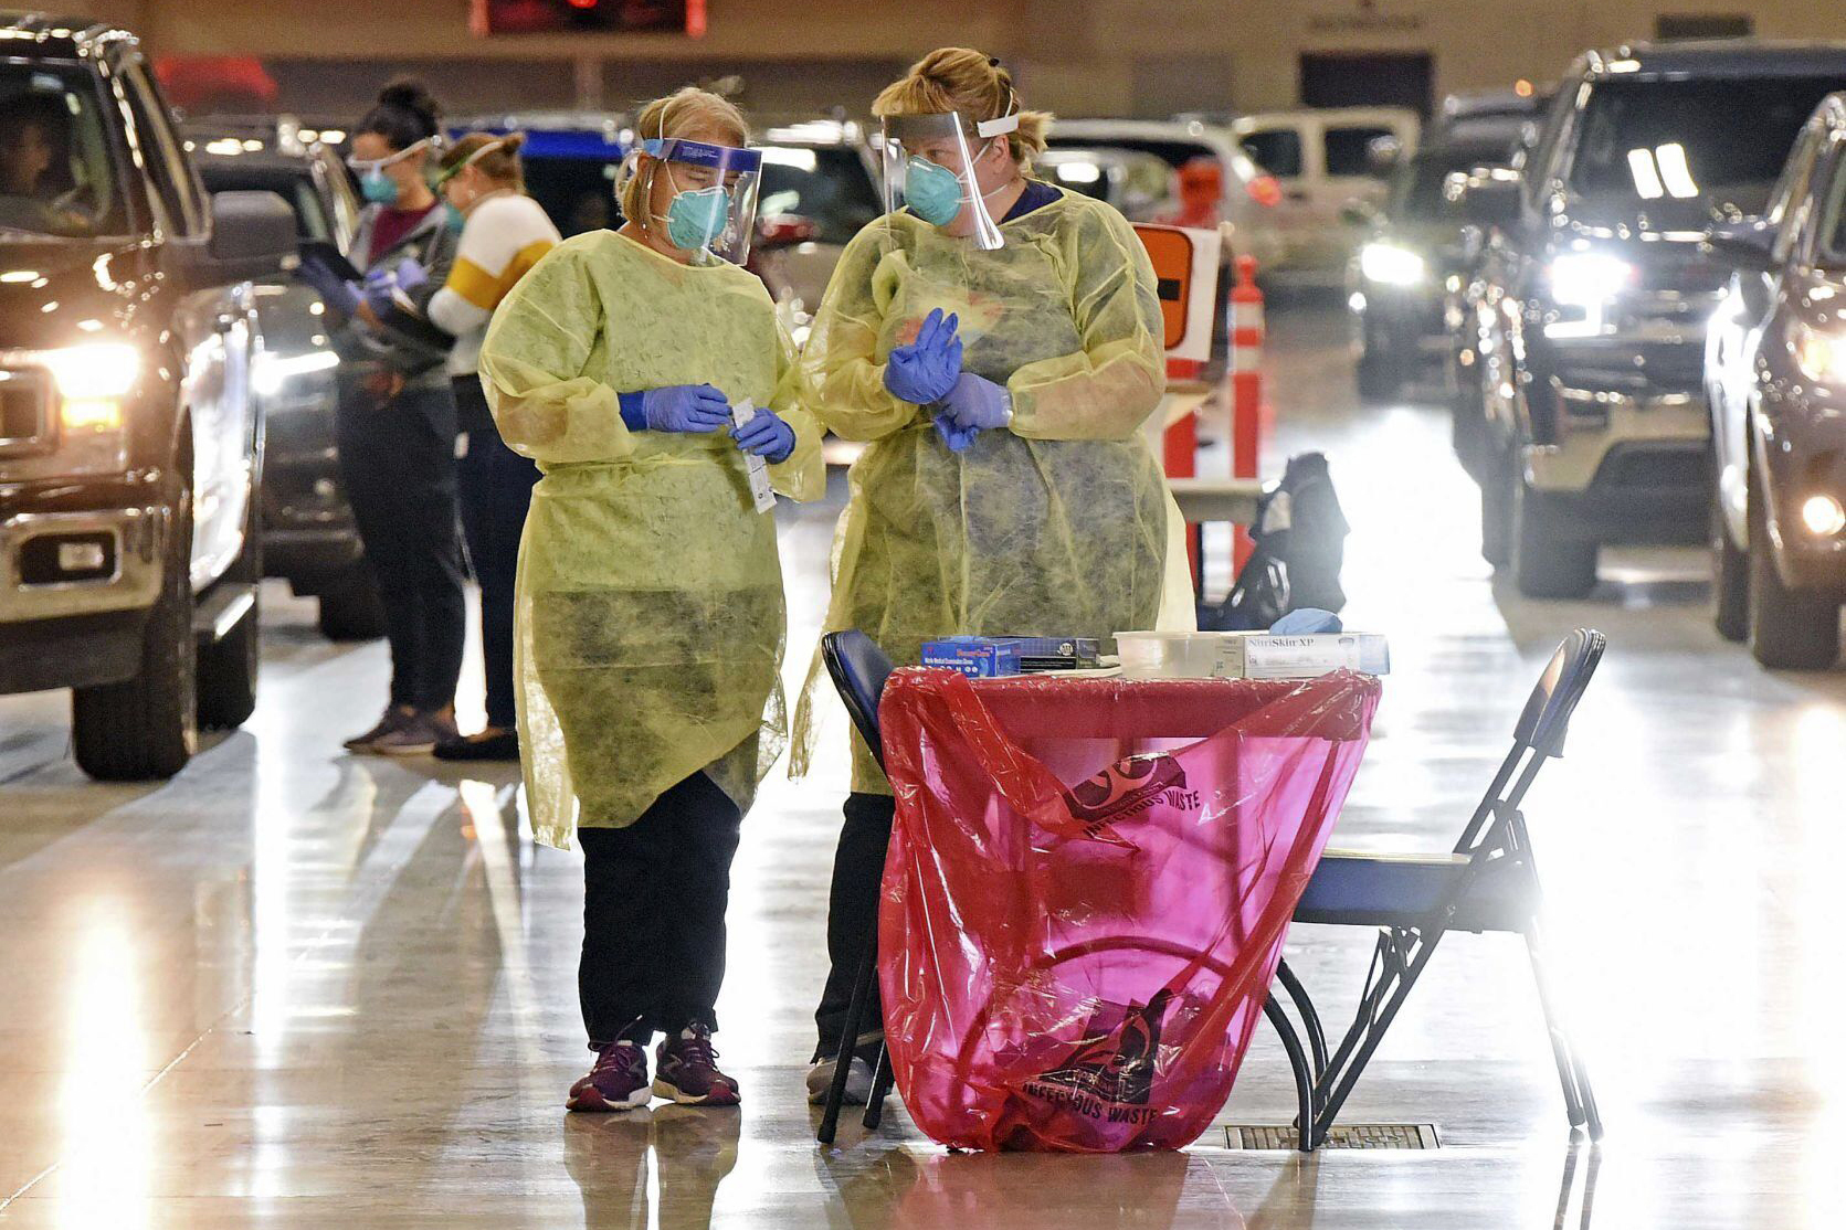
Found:
[[[1588,594],[1604,542],[1704,538],[1704,339],[1728,277],[1704,232],[1763,208],[1840,85],[1846,46],[1593,52],[1517,173],[1469,181],[1493,231],[1471,295],[1482,550],[1521,592]]]

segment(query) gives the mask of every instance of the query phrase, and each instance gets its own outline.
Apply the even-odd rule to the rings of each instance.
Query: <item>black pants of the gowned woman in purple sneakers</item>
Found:
[[[742,821],[731,797],[694,773],[628,828],[578,828],[578,999],[593,1047],[718,1027],[724,907]]]

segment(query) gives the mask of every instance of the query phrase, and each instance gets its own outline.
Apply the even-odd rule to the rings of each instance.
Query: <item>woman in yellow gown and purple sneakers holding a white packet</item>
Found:
[[[537,837],[583,848],[572,1110],[737,1105],[711,1035],[738,826],[785,743],[783,577],[749,465],[825,487],[762,282],[738,264],[757,155],[714,94],[648,103],[620,231],[565,240],[487,326],[500,437],[537,461],[515,673]],[[735,424],[751,402],[755,417]],[[646,1046],[665,1033],[648,1081]]]

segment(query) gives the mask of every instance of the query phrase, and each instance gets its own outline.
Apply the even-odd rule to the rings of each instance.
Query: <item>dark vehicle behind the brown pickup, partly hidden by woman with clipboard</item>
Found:
[[[332,149],[305,144],[290,124],[257,129],[207,120],[188,124],[186,136],[207,190],[275,192],[295,214],[297,240],[347,251],[360,205]],[[384,607],[340,487],[340,356],[329,341],[327,306],[294,277],[268,278],[255,291],[262,326],[253,387],[264,420],[264,572],[319,599],[327,636],[384,636]]]

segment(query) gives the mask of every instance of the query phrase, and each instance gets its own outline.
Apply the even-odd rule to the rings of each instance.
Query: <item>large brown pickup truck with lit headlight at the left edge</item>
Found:
[[[0,17],[0,692],[74,688],[78,763],[168,776],[255,706],[268,192],[207,197],[135,39]]]

